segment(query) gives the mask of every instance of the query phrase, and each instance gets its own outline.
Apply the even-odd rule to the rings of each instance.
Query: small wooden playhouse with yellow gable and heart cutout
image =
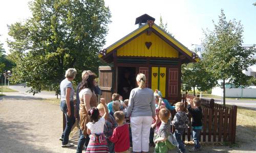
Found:
[[[113,93],[129,98],[137,73],[146,75],[146,87],[174,103],[181,100],[181,65],[199,58],[154,21],[147,14],[136,18],[138,29],[100,50],[99,58],[112,65],[99,67],[101,97],[108,102]]]

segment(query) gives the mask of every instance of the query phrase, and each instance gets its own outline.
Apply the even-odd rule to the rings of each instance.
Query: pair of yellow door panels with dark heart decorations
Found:
[[[165,97],[166,86],[166,67],[152,67],[151,89],[161,91],[162,96]]]

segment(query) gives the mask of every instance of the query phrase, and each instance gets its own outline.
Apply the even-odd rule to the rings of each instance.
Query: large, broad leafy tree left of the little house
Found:
[[[52,87],[56,92],[68,68],[97,72],[99,49],[105,44],[110,10],[103,0],[35,0],[32,17],[9,26],[12,80],[27,83],[33,94]]]

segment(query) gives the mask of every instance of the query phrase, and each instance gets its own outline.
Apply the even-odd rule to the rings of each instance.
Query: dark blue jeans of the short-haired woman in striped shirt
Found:
[[[61,138],[63,139],[62,145],[68,144],[69,142],[69,134],[71,132],[72,126],[75,123],[75,117],[74,117],[74,103],[73,101],[70,101],[70,109],[71,109],[71,115],[68,116],[67,114],[67,104],[66,100],[61,100],[60,101],[60,109],[61,111],[65,114],[66,117],[66,127],[65,130],[63,131]]]

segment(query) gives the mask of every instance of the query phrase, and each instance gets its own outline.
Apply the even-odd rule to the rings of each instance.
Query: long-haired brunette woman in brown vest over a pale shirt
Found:
[[[89,143],[89,136],[87,134],[86,124],[89,122],[88,111],[91,107],[97,107],[97,97],[93,91],[95,86],[96,75],[92,71],[85,71],[82,76],[82,82],[79,88],[79,116],[80,116],[80,130],[82,134],[77,145],[77,152],[82,152],[83,144],[87,146]]]

